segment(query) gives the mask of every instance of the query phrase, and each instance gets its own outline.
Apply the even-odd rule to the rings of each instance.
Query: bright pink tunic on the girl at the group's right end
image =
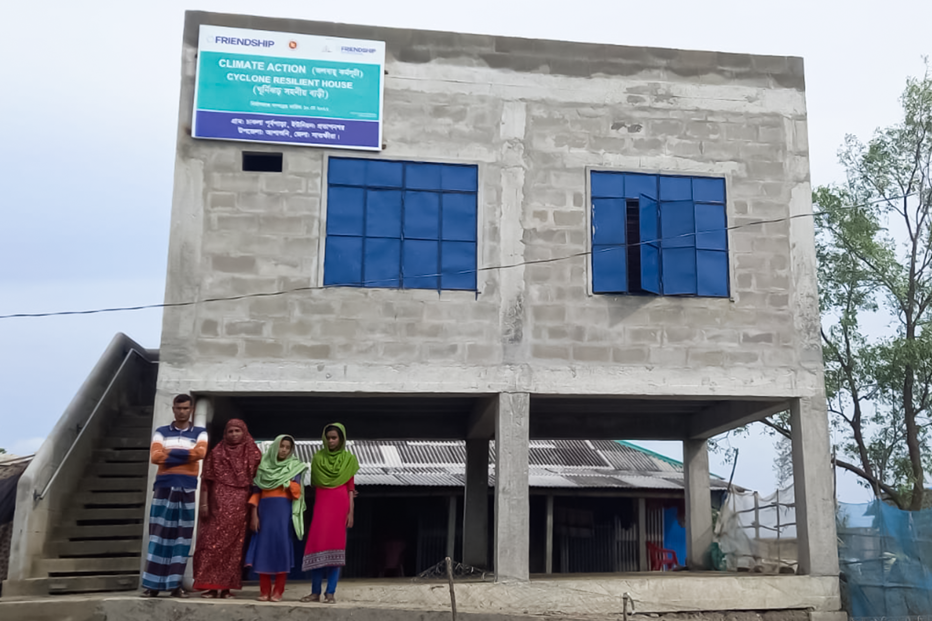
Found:
[[[310,571],[319,567],[342,567],[346,565],[348,484],[317,487],[314,491],[314,517],[311,518],[301,568]]]

